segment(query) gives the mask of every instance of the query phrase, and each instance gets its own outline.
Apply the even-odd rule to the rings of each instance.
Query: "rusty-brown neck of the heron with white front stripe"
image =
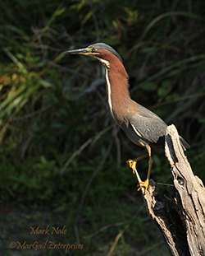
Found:
[[[130,104],[128,75],[123,64],[106,68],[107,96],[112,118],[121,125]]]

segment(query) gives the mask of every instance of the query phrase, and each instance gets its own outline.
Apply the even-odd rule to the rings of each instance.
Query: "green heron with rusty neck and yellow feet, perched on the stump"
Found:
[[[137,161],[149,157],[148,175],[145,182],[139,182],[144,187],[145,193],[148,189],[148,180],[153,165],[153,147],[164,147],[166,123],[157,114],[131,100],[129,93],[128,74],[122,63],[122,58],[111,46],[103,43],[91,44],[84,49],[75,49],[62,54],[83,54],[103,63],[106,71],[108,105],[112,118],[124,130],[130,141],[139,147],[146,147],[148,154],[134,160],[127,161],[132,170],[135,170]],[[189,144],[180,137],[180,143],[184,150]]]

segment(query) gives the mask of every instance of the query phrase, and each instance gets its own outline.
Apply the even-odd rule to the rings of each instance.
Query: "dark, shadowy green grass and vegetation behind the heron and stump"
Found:
[[[1,9],[2,220],[17,225],[16,211],[26,219],[16,227],[19,240],[47,212],[43,228],[67,227],[55,241],[84,244],[69,254],[167,255],[125,165],[144,150],[108,112],[102,64],[61,53],[98,41],[112,45],[130,75],[132,98],[175,123],[191,145],[194,174],[205,180],[205,2],[13,0],[1,1]],[[171,184],[164,151],[153,161],[152,178]],[[147,169],[148,161],[139,162],[142,179]]]

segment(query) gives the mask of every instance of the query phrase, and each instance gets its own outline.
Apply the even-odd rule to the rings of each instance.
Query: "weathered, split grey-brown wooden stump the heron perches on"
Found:
[[[166,241],[171,255],[205,255],[205,189],[194,176],[175,126],[166,130],[165,154],[171,165],[174,187],[162,196],[151,179],[144,202]],[[142,191],[143,192],[143,191]]]

